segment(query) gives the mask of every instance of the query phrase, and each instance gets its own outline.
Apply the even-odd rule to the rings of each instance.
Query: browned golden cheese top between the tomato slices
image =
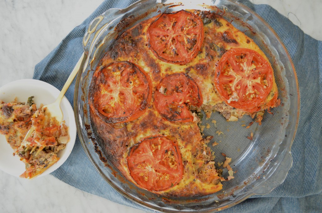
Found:
[[[137,183],[131,177],[127,165],[130,148],[143,138],[157,134],[164,135],[176,143],[182,157],[183,177],[173,187],[156,192],[164,195],[193,196],[214,193],[222,189],[220,181],[223,181],[223,178],[218,176],[211,151],[197,125],[198,119],[193,122],[168,121],[156,110],[154,96],[160,81],[169,74],[186,73],[201,91],[202,107],[213,107],[223,102],[214,86],[214,73],[224,52],[236,47],[249,48],[267,59],[251,38],[220,15],[206,11],[190,12],[199,16],[204,25],[204,42],[191,62],[167,63],[159,60],[151,51],[147,31],[150,24],[159,17],[156,16],[119,35],[101,59],[96,71],[113,62],[128,61],[147,74],[152,94],[141,116],[134,121],[112,124],[104,122],[91,111],[91,122],[105,154],[121,173],[135,184]],[[273,89],[277,90],[275,81]]]

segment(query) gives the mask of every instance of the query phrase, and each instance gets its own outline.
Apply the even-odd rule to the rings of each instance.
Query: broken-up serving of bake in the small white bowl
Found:
[[[69,141],[64,121],[59,124],[44,111],[43,105],[37,109],[33,97],[28,98],[27,104],[16,99],[0,104],[0,133],[14,150],[13,155],[18,155],[25,164],[22,178],[35,178],[56,163],[59,160],[57,153]],[[34,131],[24,140],[31,127]]]

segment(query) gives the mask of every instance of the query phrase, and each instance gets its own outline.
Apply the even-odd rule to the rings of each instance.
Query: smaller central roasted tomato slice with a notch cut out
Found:
[[[189,107],[200,107],[202,96],[196,82],[185,73],[167,75],[154,93],[156,110],[167,120],[192,122]]]

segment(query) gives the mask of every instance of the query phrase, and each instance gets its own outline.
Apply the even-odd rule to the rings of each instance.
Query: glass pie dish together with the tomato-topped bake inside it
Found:
[[[249,8],[142,0],[95,18],[83,46],[78,133],[119,193],[159,211],[213,212],[283,183],[298,81]]]

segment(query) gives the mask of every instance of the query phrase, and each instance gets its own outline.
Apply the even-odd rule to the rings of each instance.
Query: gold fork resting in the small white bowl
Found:
[[[78,60],[73,71],[69,75],[66,83],[64,84],[64,86],[63,86],[61,92],[59,93],[57,99],[55,100],[55,102],[43,106],[45,108],[45,111],[44,111],[45,115],[55,117],[59,124],[62,123],[62,119],[63,119],[62,108],[60,107],[60,103],[61,103],[62,98],[64,97],[67,89],[71,85],[71,82],[74,80],[76,74],[78,73],[78,71],[81,67],[81,62],[82,62],[83,58],[84,58],[84,53],[81,55],[81,58]],[[27,138],[30,137],[30,135],[31,135],[31,133],[33,133],[33,131],[34,131],[34,128],[33,128],[33,126],[31,126],[31,128],[27,132],[26,136],[24,137],[24,141],[26,141]]]

